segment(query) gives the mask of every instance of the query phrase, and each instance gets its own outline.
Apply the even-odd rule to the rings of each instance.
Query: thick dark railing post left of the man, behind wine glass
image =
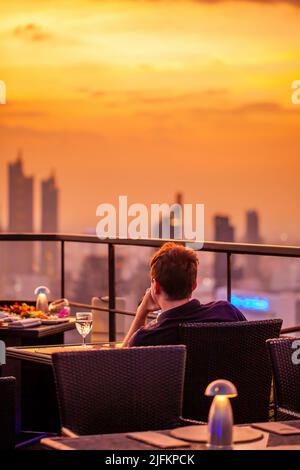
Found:
[[[116,285],[115,285],[115,246],[108,244],[108,339],[116,341],[116,314],[112,312],[116,308]]]

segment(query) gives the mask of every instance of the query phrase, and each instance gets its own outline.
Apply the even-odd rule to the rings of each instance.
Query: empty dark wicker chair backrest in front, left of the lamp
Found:
[[[61,424],[78,434],[179,425],[184,346],[53,354]]]

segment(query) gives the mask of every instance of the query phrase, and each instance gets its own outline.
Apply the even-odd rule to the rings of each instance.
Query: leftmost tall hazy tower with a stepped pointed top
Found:
[[[33,177],[25,176],[22,152],[8,165],[8,231],[33,232]],[[12,273],[31,273],[33,270],[33,243],[18,242],[9,259]]]

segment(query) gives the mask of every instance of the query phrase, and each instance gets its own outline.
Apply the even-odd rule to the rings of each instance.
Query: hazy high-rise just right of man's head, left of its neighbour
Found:
[[[214,219],[215,241],[234,242],[234,227],[229,217],[216,215]],[[232,266],[233,268],[233,266]],[[226,285],[227,260],[223,253],[215,254],[214,277],[216,288]]]

